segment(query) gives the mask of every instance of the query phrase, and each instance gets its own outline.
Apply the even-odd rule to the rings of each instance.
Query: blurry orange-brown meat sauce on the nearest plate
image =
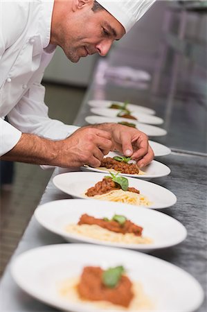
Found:
[[[125,275],[115,288],[109,288],[102,283],[100,267],[87,266],[83,269],[78,284],[78,293],[83,300],[100,301],[105,300],[112,304],[128,307],[134,294],[132,292],[132,281]]]

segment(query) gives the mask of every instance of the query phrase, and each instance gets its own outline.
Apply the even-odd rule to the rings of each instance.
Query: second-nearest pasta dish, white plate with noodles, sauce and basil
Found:
[[[121,216],[136,226],[125,225]],[[95,200],[55,200],[37,207],[35,217],[46,229],[69,242],[112,245],[145,252],[181,243],[187,235],[186,228],[168,215],[145,208],[123,207],[116,202],[106,205],[101,201],[97,205]],[[110,224],[112,219],[114,222]]]

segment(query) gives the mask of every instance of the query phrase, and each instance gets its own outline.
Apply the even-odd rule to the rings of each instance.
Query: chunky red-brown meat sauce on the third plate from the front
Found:
[[[91,187],[87,190],[86,196],[92,197],[102,195],[118,189],[121,189],[118,183],[114,182],[111,177],[104,177],[102,181],[95,184],[95,187]],[[139,194],[139,191],[134,187],[128,187],[127,191]]]

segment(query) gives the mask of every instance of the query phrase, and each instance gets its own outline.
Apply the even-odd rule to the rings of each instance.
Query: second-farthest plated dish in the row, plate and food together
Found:
[[[91,112],[96,115],[110,118],[127,119],[128,122],[138,121],[140,123],[150,123],[152,125],[161,125],[163,119],[158,116],[143,114],[140,112],[131,112],[129,110],[116,110],[111,108],[92,107]]]

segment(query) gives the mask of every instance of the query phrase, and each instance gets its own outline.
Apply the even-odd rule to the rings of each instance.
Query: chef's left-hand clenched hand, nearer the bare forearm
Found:
[[[110,132],[90,127],[76,130],[70,137],[57,141],[57,144],[60,153],[55,160],[62,167],[84,164],[98,167],[104,155],[114,149]]]

